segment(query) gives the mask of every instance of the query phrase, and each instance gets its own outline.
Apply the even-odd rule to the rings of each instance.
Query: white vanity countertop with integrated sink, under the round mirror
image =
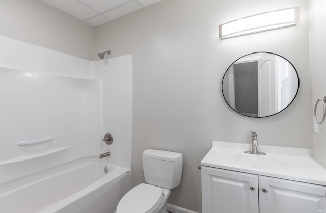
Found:
[[[259,145],[266,155],[244,153],[251,149],[251,144],[213,141],[201,165],[326,185],[326,169],[310,157],[309,149]]]

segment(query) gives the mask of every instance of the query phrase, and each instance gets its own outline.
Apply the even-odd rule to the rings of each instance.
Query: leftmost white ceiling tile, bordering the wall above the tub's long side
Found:
[[[43,2],[58,8],[76,18],[85,20],[97,15],[95,11],[78,2],[77,0],[42,0]]]

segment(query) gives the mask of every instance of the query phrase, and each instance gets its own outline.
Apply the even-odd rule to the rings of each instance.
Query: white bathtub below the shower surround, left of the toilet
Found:
[[[0,185],[1,213],[114,213],[131,188],[130,169],[87,157]],[[104,168],[108,168],[105,174]]]

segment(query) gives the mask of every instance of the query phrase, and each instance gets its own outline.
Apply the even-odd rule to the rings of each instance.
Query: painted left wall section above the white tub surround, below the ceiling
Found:
[[[93,59],[93,27],[39,0],[0,0],[0,35]]]

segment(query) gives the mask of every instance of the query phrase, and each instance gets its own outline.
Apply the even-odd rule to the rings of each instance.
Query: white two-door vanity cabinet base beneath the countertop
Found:
[[[203,213],[326,212],[326,187],[202,166]]]

